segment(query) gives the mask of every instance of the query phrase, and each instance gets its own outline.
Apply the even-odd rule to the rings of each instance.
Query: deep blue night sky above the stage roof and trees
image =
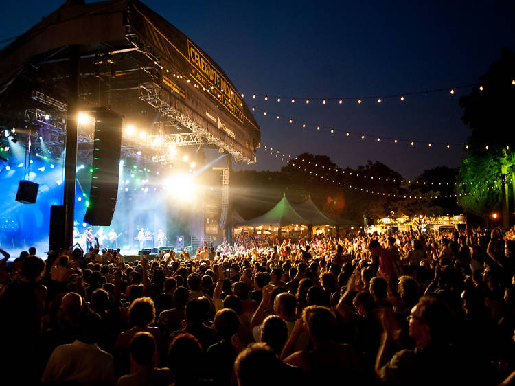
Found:
[[[63,2],[4,2],[0,41],[25,32]],[[458,99],[471,89],[454,95],[450,89],[478,82],[502,47],[515,49],[514,1],[144,3],[204,49],[245,93],[249,107],[256,107],[262,144],[293,157],[325,154],[343,168],[378,160],[407,179],[435,166],[460,165],[465,153],[452,144],[464,144],[469,129]],[[369,95],[438,88],[445,90],[404,102],[357,103]],[[261,96],[253,100],[253,93]],[[279,95],[281,102],[265,102],[264,95]],[[306,104],[306,98],[352,99],[323,105]],[[306,128],[288,124],[290,117]],[[343,131],[331,134],[330,128]],[[347,137],[347,130],[365,140]],[[378,137],[444,144],[411,147]],[[279,170],[285,162],[258,149],[258,163],[236,168]]]

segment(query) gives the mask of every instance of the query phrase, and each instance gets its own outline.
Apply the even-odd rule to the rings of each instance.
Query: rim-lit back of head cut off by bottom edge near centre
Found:
[[[239,386],[284,386],[286,365],[266,343],[251,343],[234,362]]]

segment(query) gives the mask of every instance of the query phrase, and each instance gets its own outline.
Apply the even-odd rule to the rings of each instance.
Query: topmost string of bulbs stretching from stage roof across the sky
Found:
[[[512,80],[512,85],[515,86],[515,79]],[[271,101],[271,102],[290,102],[291,104],[295,103],[304,103],[304,104],[314,104],[319,103],[323,105],[329,105],[331,102],[335,104],[343,104],[344,102],[355,102],[357,104],[363,104],[366,100],[374,100],[375,103],[382,103],[385,100],[388,99],[396,99],[400,102],[405,102],[408,97],[414,96],[414,95],[428,95],[430,93],[441,93],[443,91],[446,91],[450,93],[450,95],[455,95],[456,91],[459,89],[468,89],[470,87],[479,87],[479,91],[483,91],[484,87],[482,84],[478,84],[477,82],[470,83],[470,84],[464,84],[462,86],[458,87],[439,87],[437,89],[426,89],[422,91],[411,91],[407,93],[393,93],[388,95],[365,95],[362,97],[359,96],[353,96],[353,97],[345,97],[345,98],[320,98],[320,97],[288,97],[285,98],[284,96],[281,97],[280,95],[271,95],[267,93],[247,93],[247,95],[252,95],[252,99],[263,99],[265,102]],[[242,98],[246,95],[245,93],[242,93]]]

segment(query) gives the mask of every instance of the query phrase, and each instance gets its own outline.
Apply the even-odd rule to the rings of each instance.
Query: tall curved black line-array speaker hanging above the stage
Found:
[[[89,206],[84,215],[88,224],[111,225],[118,196],[121,146],[122,117],[104,108],[97,109]]]

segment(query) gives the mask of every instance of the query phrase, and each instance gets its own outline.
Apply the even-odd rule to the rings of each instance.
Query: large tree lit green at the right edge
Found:
[[[501,187],[495,184],[508,180],[514,168],[514,68],[515,52],[503,49],[501,60],[479,78],[480,86],[459,100],[464,109],[461,120],[472,130],[467,140],[468,158],[462,163],[455,190],[459,205],[487,218],[501,204],[505,226],[509,208],[506,201],[501,203]]]

